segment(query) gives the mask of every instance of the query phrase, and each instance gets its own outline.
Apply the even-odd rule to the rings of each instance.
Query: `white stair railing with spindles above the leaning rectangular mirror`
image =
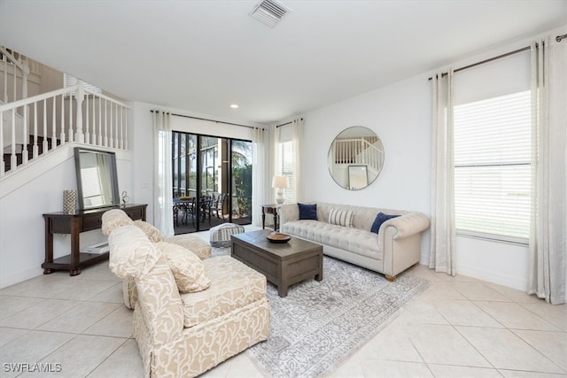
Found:
[[[20,122],[19,114],[23,114]],[[0,177],[6,172],[16,172],[29,160],[64,143],[128,150],[127,125],[127,104],[85,89],[82,81],[73,87],[2,104],[0,146],[3,148],[3,164]],[[4,164],[6,150],[9,150],[9,170]]]

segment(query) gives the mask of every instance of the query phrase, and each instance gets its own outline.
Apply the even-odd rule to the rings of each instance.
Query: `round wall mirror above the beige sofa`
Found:
[[[341,187],[364,189],[382,171],[384,146],[369,128],[348,127],[330,145],[327,165],[331,177]]]

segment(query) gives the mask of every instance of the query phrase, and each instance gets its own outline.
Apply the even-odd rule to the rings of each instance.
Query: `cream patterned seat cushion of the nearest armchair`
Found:
[[[266,276],[230,256],[203,260],[211,286],[182,294],[184,327],[217,318],[266,296]]]

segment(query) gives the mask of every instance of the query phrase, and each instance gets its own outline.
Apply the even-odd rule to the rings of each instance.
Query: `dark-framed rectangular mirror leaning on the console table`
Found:
[[[120,204],[114,152],[74,149],[79,209],[87,210]]]

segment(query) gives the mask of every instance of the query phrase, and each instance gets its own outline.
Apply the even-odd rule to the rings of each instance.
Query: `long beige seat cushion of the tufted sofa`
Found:
[[[381,260],[384,255],[378,244],[378,235],[359,228],[346,228],[317,220],[293,220],[284,223],[282,231],[369,258]]]

